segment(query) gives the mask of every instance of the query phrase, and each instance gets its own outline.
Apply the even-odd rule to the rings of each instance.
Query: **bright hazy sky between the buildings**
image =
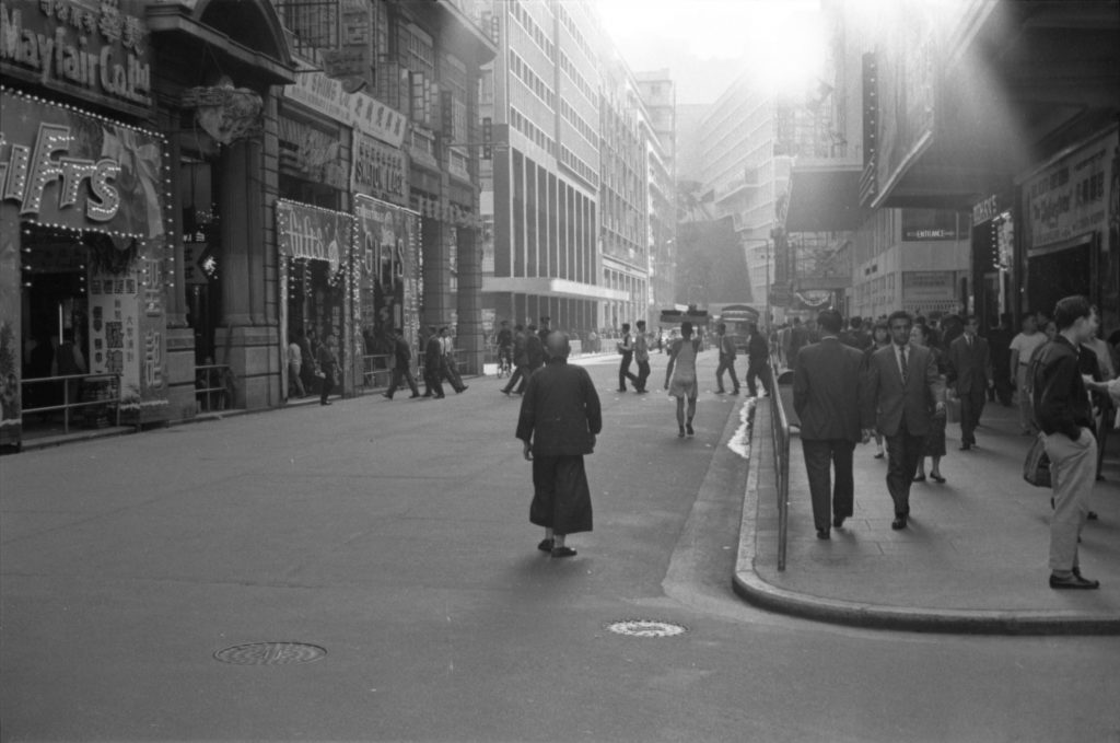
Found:
[[[746,68],[787,84],[822,56],[819,0],[595,2],[631,69],[670,69],[678,103],[711,103]]]

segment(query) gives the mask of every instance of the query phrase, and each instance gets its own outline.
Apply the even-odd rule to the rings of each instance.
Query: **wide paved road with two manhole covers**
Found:
[[[3,457],[0,736],[1120,741],[1117,638],[890,633],[744,604],[741,400],[706,391],[678,439],[671,403],[613,392],[609,363],[589,366],[596,530],[570,560],[535,550],[517,401],[494,380]],[[626,619],[688,631],[607,631]],[[214,659],[267,641],[327,654]]]

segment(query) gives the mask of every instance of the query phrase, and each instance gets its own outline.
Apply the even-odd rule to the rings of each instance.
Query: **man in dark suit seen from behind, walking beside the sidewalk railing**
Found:
[[[830,470],[836,470],[832,526],[840,528],[852,514],[855,504],[852,453],[857,442],[868,440],[864,430],[871,427],[871,420],[860,420],[866,407],[859,401],[864,354],[840,342],[843,326],[840,313],[825,309],[816,316],[816,323],[821,328],[820,342],[797,353],[793,408],[801,418],[801,448],[809,474],[816,538],[828,539]]]

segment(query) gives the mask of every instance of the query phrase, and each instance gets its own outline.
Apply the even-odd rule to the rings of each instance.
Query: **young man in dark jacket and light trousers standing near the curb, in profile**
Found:
[[[1039,350],[1033,380],[1035,419],[1046,435],[1054,513],[1051,517],[1051,588],[1098,588],[1081,575],[1077,540],[1089,516],[1096,468],[1093,410],[1077,368],[1081,344],[1093,336],[1095,315],[1085,297],[1060,299],[1056,337]]]

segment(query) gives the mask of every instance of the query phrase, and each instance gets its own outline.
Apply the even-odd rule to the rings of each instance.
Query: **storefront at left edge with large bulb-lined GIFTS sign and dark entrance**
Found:
[[[118,409],[127,424],[165,420],[166,141],[7,87],[0,96],[3,443],[25,428],[104,426]],[[93,400],[111,402],[68,419],[58,409]]]

